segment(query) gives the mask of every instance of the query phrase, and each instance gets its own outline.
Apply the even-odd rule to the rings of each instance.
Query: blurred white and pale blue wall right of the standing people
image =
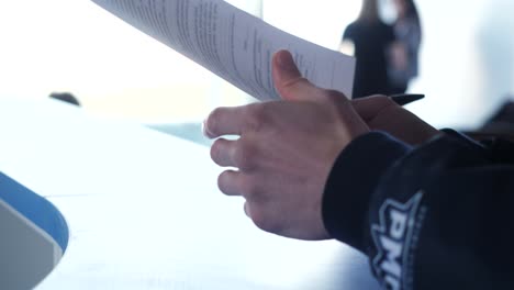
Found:
[[[514,93],[514,1],[418,0],[422,71],[411,109],[439,126],[480,125]]]

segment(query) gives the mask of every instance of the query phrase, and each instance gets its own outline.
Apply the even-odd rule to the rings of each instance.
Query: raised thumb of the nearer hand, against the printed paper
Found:
[[[283,100],[315,100],[316,92],[319,93],[320,88],[302,77],[290,52],[277,52],[273,55],[271,66],[275,87]]]

